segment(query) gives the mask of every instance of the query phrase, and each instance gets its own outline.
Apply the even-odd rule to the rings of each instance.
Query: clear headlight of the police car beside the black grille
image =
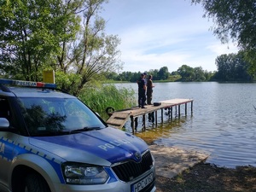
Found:
[[[65,181],[69,184],[102,184],[108,180],[108,174],[102,166],[66,162],[61,167]]]

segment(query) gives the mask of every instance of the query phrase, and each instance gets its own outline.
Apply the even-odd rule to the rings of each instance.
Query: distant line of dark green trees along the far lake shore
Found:
[[[168,67],[150,69],[146,73],[153,75],[154,81],[252,81],[253,77],[247,73],[249,64],[241,53],[220,55],[215,60],[217,71],[208,72],[202,67],[183,65],[170,73]],[[143,72],[107,73],[106,78],[114,81],[136,82]]]

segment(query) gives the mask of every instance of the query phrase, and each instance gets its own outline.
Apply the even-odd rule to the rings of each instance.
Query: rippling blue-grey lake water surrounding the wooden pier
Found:
[[[153,102],[193,99],[193,113],[190,112],[190,103],[187,115],[184,105],[181,107],[180,118],[173,116],[171,120],[165,115],[161,123],[158,113],[158,125],[147,122],[147,131],[137,132],[138,137],[160,145],[206,152],[210,154],[207,162],[217,166],[256,166],[256,84],[203,82],[154,85]],[[133,89],[137,93],[136,83],[116,86]]]

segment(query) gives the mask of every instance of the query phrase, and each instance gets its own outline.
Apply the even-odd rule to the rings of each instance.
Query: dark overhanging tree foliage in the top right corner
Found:
[[[256,4],[255,0],[191,0],[201,3],[205,17],[212,18],[213,33],[223,42],[229,38],[238,43],[250,62],[250,73],[256,73]]]

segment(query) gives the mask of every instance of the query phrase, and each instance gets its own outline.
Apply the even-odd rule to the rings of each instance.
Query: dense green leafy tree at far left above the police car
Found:
[[[81,3],[9,0],[0,6],[0,69],[17,79],[42,80],[44,65],[60,53],[61,41],[79,30],[73,11]]]

